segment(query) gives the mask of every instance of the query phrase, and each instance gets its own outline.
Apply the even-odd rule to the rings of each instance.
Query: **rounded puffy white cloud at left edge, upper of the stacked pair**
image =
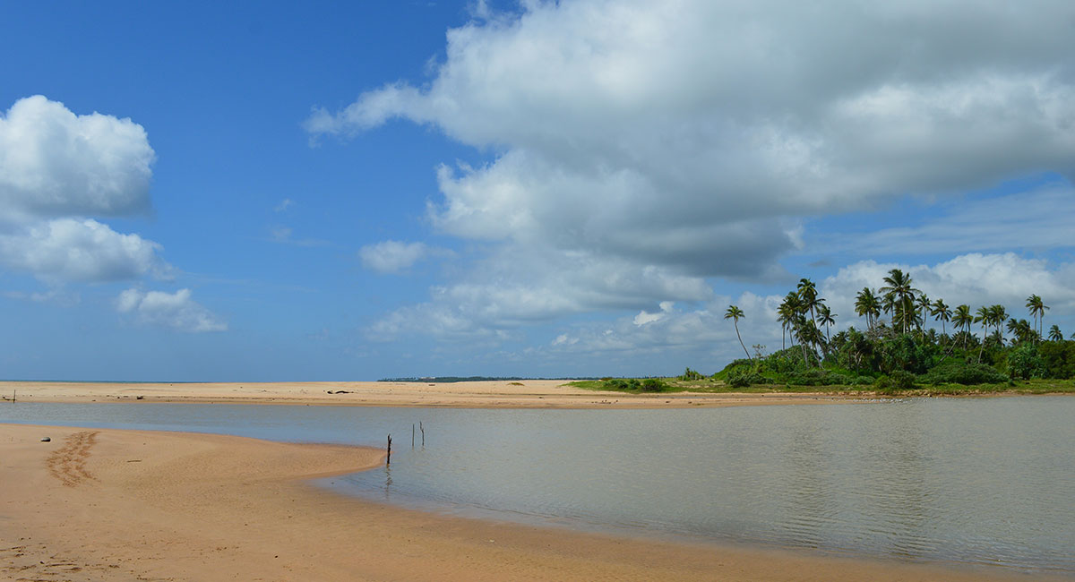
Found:
[[[144,213],[154,157],[130,119],[20,99],[0,117],[0,219]]]

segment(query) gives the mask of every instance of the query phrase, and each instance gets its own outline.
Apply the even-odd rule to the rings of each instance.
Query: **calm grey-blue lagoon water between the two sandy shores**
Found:
[[[1075,398],[679,410],[0,404],[0,421],[382,447],[326,480],[465,514],[1075,573]],[[411,448],[411,425],[426,446]]]

